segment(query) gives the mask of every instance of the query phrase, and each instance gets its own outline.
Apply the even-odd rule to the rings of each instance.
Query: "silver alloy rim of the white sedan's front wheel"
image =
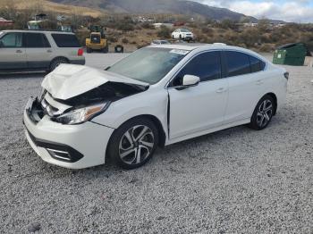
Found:
[[[119,155],[123,163],[139,164],[148,158],[154,146],[153,131],[145,125],[136,125],[123,134],[119,144]]]

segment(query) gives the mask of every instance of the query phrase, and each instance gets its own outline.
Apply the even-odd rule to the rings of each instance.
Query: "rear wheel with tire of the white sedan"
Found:
[[[259,100],[251,117],[249,127],[253,130],[264,130],[273,118],[276,104],[272,96],[263,96]]]

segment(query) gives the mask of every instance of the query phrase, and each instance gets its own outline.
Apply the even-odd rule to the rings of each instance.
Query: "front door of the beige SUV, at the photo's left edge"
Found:
[[[27,68],[27,58],[21,32],[8,32],[0,38],[0,70]]]

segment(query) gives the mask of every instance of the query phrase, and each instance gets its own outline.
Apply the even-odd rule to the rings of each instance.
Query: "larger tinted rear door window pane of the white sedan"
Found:
[[[251,72],[248,54],[234,51],[227,51],[225,54],[229,77],[248,74]]]

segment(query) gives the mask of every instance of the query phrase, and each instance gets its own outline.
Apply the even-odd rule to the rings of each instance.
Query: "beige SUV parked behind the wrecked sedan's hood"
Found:
[[[60,63],[85,64],[83,49],[73,33],[0,31],[0,71],[53,71]]]

